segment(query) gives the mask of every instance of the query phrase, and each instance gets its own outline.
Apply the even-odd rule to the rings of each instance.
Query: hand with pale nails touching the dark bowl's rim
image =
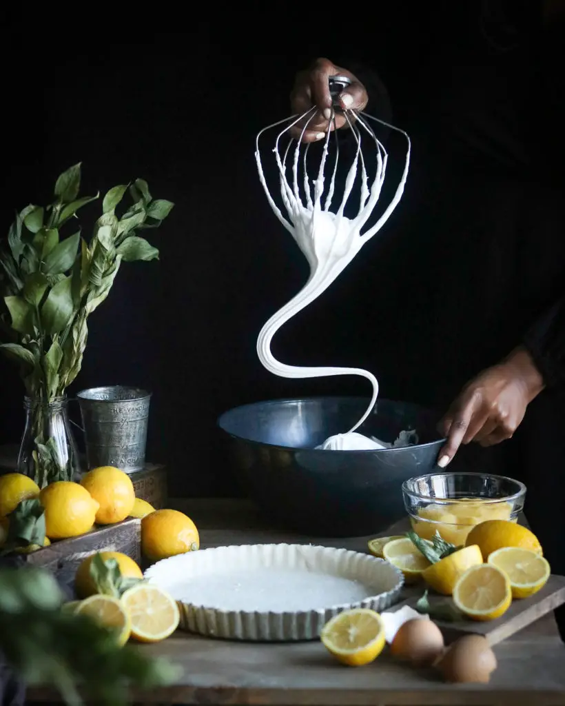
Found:
[[[544,386],[540,371],[523,348],[479,373],[461,390],[439,422],[447,442],[437,465],[446,467],[462,443],[476,441],[481,446],[492,446],[511,438],[526,407]]]

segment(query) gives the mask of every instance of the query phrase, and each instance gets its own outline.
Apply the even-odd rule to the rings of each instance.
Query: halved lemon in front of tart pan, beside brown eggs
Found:
[[[320,639],[342,664],[363,666],[377,659],[384,647],[384,625],[368,608],[343,611],[322,629]]]

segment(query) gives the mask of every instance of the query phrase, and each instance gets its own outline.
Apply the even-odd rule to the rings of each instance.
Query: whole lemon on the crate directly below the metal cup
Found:
[[[114,525],[131,514],[135,503],[133,483],[127,473],[113,466],[92,469],[80,480],[100,507],[96,513],[97,525]]]

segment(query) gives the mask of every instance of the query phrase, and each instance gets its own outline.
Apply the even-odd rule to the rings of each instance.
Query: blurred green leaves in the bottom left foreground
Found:
[[[54,577],[39,568],[0,569],[0,652],[30,686],[54,686],[68,706],[81,692],[101,706],[126,706],[130,686],[176,681],[178,667],[117,647],[114,635],[87,616],[61,611]]]

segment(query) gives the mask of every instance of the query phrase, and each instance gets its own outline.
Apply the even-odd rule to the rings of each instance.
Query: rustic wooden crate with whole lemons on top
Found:
[[[49,569],[59,580],[72,584],[78,565],[97,551],[121,551],[141,562],[141,520],[131,517],[116,525],[92,530],[80,537],[61,539],[32,554],[23,554],[30,566]]]

